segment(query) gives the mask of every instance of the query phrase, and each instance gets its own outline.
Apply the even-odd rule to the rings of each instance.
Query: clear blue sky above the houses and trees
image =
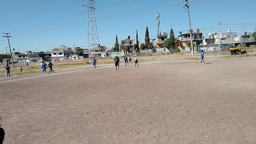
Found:
[[[138,30],[139,42],[144,41],[148,25],[150,39],[156,38],[155,14],[160,13],[160,31],[175,37],[189,29],[183,0],[95,0],[95,18],[100,45],[108,47],[132,38]],[[15,51],[46,51],[64,44],[67,47],[87,44],[87,0],[0,0],[0,53],[6,53],[10,32],[10,47]],[[256,0],[188,0],[191,28],[199,28],[204,37],[218,32],[254,32],[256,27]],[[84,8],[84,10],[83,10]],[[136,33],[134,32],[134,39]]]

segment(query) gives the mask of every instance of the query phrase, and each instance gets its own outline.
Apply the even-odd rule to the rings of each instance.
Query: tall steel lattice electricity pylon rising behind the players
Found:
[[[96,8],[94,7],[95,1],[94,0],[87,0],[87,4],[82,4],[82,6],[87,7],[88,14],[88,51],[90,53],[89,49],[93,49],[93,53],[90,53],[90,55],[95,54],[95,48],[98,46],[98,33],[97,33],[97,27],[96,27],[96,20],[95,20],[95,14],[94,11]]]

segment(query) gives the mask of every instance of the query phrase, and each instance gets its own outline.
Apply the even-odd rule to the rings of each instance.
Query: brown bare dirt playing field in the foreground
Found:
[[[0,77],[3,143],[256,143],[256,57]]]

